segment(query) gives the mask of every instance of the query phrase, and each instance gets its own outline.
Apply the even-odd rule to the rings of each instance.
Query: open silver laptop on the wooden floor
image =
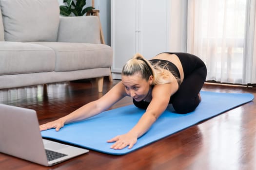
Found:
[[[0,152],[52,166],[89,151],[42,139],[35,110],[0,104]]]

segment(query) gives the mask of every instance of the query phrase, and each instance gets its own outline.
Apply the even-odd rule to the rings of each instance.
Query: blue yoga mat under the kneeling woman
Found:
[[[105,111],[95,117],[65,125],[59,132],[50,129],[41,132],[43,137],[75,144],[89,150],[108,154],[126,154],[145,145],[155,142],[165,136],[174,134],[198,122],[212,118],[227,110],[235,108],[254,99],[249,93],[215,93],[201,91],[202,102],[191,113],[180,115],[168,109],[158,118],[149,131],[138,138],[132,149],[110,149],[112,143],[106,141],[127,133],[144,113],[134,105],[128,105]]]

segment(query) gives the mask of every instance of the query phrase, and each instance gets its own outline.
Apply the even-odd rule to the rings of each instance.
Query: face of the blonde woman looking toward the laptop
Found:
[[[150,85],[153,82],[153,76],[149,80],[142,78],[140,73],[131,76],[122,76],[122,83],[127,95],[131,96],[135,101],[139,102],[148,95]]]

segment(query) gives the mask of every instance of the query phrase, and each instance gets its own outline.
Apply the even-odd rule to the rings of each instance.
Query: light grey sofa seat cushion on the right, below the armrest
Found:
[[[111,67],[113,50],[104,44],[31,42],[50,47],[56,52],[55,71],[73,71]]]

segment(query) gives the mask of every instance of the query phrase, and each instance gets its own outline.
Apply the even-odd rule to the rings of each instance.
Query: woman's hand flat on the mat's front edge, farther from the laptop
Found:
[[[128,149],[131,149],[137,142],[137,136],[131,133],[127,133],[124,135],[116,136],[108,140],[107,142],[109,143],[116,142],[110,147],[111,149],[115,149],[115,150],[123,149],[128,145],[129,145]]]

